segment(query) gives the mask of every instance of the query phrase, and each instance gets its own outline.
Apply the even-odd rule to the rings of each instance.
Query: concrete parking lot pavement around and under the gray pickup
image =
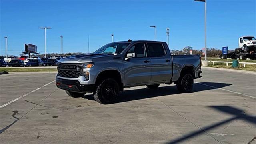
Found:
[[[1,143],[256,143],[256,75],[203,69],[194,90],[125,88],[102,105],[71,98],[55,74],[0,76]],[[6,105],[4,105],[6,104]]]

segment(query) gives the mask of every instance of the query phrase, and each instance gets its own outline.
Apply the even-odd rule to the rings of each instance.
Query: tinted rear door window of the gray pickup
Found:
[[[147,43],[150,57],[160,57],[166,55],[163,44],[160,43]]]

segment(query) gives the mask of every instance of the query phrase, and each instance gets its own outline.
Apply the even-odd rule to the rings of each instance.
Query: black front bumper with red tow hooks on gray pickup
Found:
[[[78,80],[66,80],[61,78],[56,78],[56,86],[63,90],[68,90],[71,92],[93,92],[94,84],[80,84]]]

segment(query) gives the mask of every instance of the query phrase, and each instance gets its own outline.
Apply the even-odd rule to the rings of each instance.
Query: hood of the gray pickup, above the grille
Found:
[[[104,57],[113,57],[113,55],[109,54],[79,54],[70,56],[67,58],[62,58],[58,61],[58,63],[87,63],[93,62],[94,59],[104,58]]]

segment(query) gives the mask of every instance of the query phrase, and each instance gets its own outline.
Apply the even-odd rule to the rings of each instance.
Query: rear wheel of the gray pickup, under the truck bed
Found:
[[[177,82],[177,89],[180,92],[191,92],[193,89],[194,79],[191,74],[185,74],[179,78]]]

